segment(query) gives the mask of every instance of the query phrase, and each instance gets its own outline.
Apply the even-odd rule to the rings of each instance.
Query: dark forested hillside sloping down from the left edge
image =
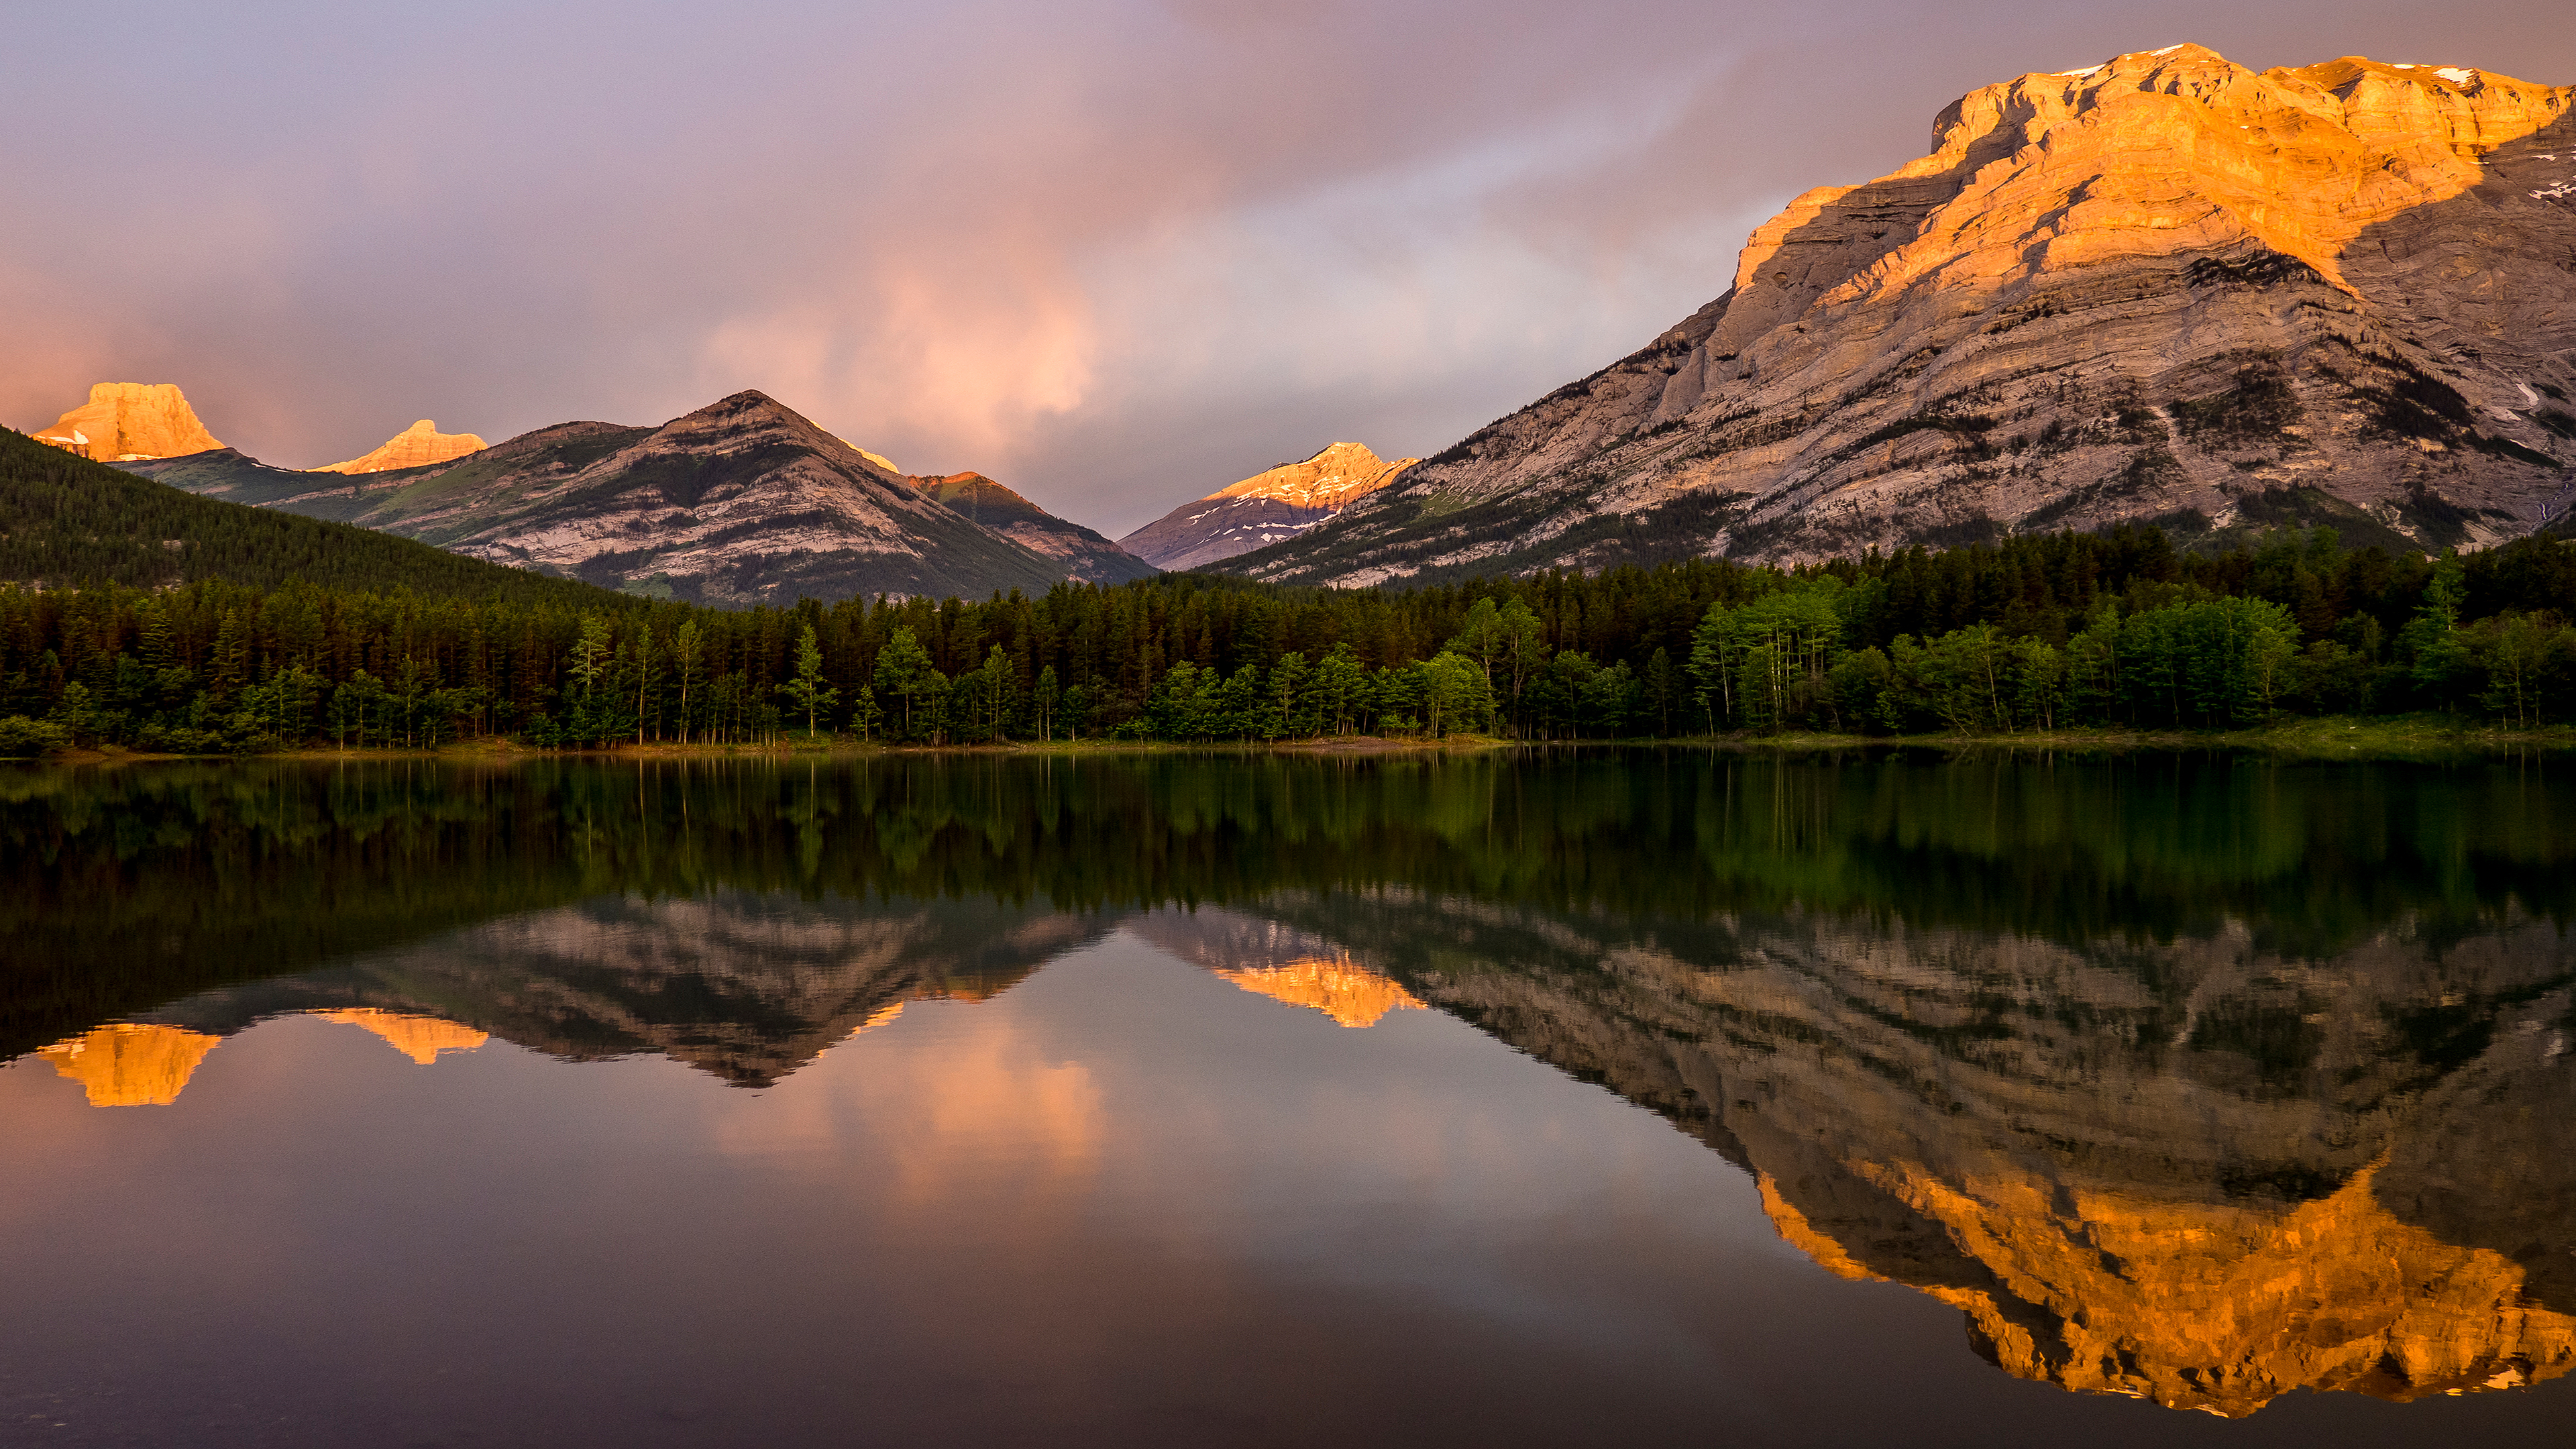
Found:
[[[229,580],[276,588],[415,590],[518,606],[618,608],[618,596],[446,549],[180,492],[0,428],[0,580],[44,588],[162,588]]]

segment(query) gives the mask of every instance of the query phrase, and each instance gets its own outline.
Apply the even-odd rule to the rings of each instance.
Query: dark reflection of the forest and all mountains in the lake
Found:
[[[21,771],[0,1052],[173,1104],[309,1013],[765,1088],[1126,933],[1600,1083],[2020,1379],[2522,1390],[2576,1366],[2571,804],[2182,755]]]

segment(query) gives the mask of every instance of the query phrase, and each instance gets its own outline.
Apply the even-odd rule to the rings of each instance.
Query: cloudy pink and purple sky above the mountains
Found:
[[[0,423],[283,467],[757,387],[1110,536],[1432,454],[1978,85],[2197,41],[2576,83],[2566,0],[0,0]]]

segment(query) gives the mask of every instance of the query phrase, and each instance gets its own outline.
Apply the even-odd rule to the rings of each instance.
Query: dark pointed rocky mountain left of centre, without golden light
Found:
[[[701,603],[1038,593],[1072,572],[1064,557],[974,523],[760,392],[659,428],[556,423],[456,462],[358,477],[240,454],[131,472]]]

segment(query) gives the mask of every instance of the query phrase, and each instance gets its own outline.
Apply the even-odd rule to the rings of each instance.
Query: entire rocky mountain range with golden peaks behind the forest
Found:
[[[1932,150],[1754,229],[1734,286],[1430,459],[1280,464],[1110,541],[904,474],[760,392],[497,446],[420,420],[330,469],[170,384],[39,441],[175,487],[703,603],[1221,570],[1440,583],[2154,523],[2488,547],[2576,500],[2576,88],[2205,46],[1981,88]]]

